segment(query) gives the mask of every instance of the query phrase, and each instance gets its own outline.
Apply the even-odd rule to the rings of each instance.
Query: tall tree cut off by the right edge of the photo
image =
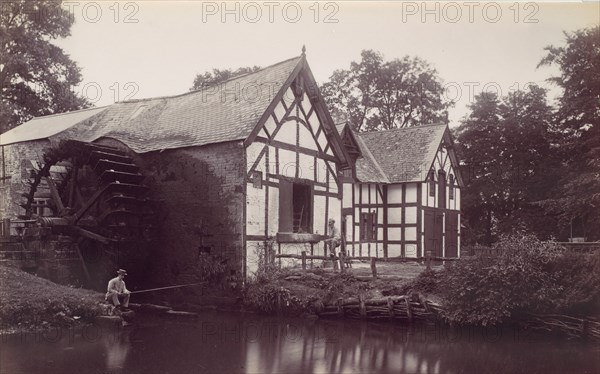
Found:
[[[600,239],[600,26],[565,33],[566,45],[546,47],[539,66],[558,66],[550,81],[562,88],[556,123],[565,172],[553,196],[541,202],[574,236]]]

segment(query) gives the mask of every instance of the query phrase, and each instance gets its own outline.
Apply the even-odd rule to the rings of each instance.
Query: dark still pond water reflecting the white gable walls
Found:
[[[1,338],[2,373],[598,373],[600,346],[525,331],[205,312]]]

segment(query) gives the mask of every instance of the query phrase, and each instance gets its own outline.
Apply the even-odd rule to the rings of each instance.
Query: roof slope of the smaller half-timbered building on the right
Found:
[[[447,126],[413,126],[358,134],[390,183],[420,182],[427,177]],[[357,165],[358,173],[358,165]]]

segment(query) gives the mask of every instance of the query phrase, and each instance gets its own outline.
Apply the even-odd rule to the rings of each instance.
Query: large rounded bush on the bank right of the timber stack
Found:
[[[459,324],[494,325],[511,315],[547,311],[560,292],[551,269],[560,249],[533,236],[503,237],[497,256],[476,256],[441,274],[443,316]]]

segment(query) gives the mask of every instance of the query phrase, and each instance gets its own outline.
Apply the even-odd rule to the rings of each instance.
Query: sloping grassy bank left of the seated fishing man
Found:
[[[102,312],[102,294],[0,266],[0,330],[72,326]]]

